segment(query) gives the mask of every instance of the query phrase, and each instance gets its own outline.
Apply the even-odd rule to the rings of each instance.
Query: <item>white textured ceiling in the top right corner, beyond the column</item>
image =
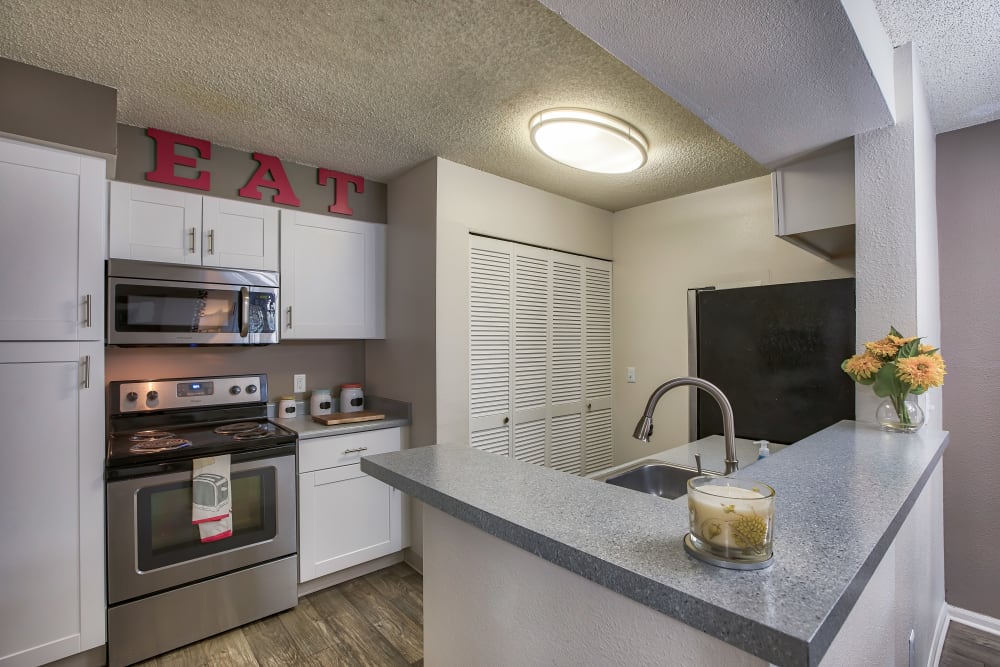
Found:
[[[935,131],[1000,118],[1000,0],[875,0],[875,6],[893,46],[916,45]]]

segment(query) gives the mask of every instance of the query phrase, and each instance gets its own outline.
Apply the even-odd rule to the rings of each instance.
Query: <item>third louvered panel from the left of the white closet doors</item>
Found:
[[[583,470],[583,267],[582,258],[552,252],[552,353],[550,356],[548,465]]]

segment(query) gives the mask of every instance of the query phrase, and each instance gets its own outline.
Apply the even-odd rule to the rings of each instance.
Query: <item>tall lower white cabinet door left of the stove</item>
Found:
[[[5,667],[105,641],[103,354],[97,341],[0,343]]]

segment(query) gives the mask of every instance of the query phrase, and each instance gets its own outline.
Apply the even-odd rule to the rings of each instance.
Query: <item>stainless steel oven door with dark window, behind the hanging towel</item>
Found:
[[[173,465],[186,470],[107,484],[110,604],[295,553],[294,454],[234,463],[233,535],[205,543],[191,523],[191,463]]]

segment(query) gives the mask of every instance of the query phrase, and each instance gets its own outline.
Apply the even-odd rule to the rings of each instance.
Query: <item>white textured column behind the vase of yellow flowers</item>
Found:
[[[937,345],[934,130],[912,45],[898,47],[894,60],[897,123],[854,140],[857,339],[881,338],[892,325]],[[874,421],[880,400],[869,388],[859,387],[857,419]],[[941,428],[941,390],[929,391],[920,402],[928,425]]]

